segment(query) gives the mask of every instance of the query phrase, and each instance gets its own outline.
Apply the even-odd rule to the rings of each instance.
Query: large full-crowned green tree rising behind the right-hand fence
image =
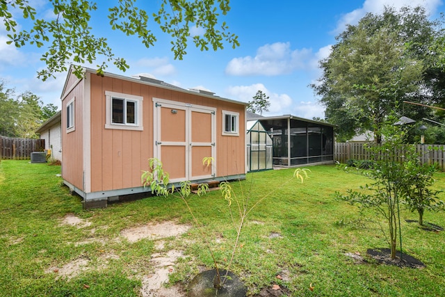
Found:
[[[321,78],[311,86],[326,106],[327,120],[339,126],[341,138],[367,129],[378,132],[390,111],[401,115],[405,110],[410,118],[430,113],[402,104],[431,96],[426,57],[436,25],[421,7],[398,12],[387,7],[382,15],[369,13],[337,36],[330,56],[320,63]]]

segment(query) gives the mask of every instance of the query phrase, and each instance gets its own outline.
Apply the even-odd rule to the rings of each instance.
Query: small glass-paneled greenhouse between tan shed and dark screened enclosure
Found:
[[[246,131],[248,171],[273,169],[273,141],[268,131],[258,120],[248,121]]]

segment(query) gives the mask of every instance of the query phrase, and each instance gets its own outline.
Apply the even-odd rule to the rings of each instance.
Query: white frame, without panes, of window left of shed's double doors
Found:
[[[106,99],[106,122],[105,129],[120,129],[120,130],[136,130],[143,131],[143,97],[116,93],[111,91],[105,91],[105,99]],[[113,99],[122,99],[124,100],[124,111],[123,118],[124,123],[115,123],[113,122]],[[126,123],[127,120],[127,102],[134,102],[134,120],[135,123]]]

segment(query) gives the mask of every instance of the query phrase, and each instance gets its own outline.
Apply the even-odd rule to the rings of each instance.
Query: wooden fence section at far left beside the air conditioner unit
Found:
[[[44,139],[0,136],[0,159],[31,159],[31,152],[42,152]]]

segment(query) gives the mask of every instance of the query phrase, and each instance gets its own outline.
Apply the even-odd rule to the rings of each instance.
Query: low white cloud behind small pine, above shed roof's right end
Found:
[[[263,113],[263,115],[289,114],[289,107],[292,105],[292,98],[287,94],[270,92],[270,90],[268,90],[262,83],[254,83],[250,86],[230,86],[225,91],[229,95],[229,98],[242,102],[249,102],[259,90],[269,96],[270,101],[269,111]]]

